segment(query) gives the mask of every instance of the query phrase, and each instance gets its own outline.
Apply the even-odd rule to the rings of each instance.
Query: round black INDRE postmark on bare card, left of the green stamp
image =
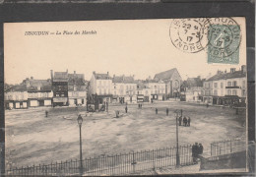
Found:
[[[207,18],[175,19],[169,28],[170,40],[181,51],[196,53],[208,45],[209,27]]]

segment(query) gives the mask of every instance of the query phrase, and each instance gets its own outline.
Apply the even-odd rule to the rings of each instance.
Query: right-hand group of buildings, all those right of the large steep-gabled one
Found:
[[[188,78],[181,85],[181,100],[218,105],[245,106],[247,95],[246,66],[238,71],[218,71],[206,79]]]

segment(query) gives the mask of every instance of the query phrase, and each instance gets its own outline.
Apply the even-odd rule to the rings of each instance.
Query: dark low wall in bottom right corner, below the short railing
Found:
[[[246,151],[236,151],[210,157],[200,155],[200,160],[200,170],[245,168]]]

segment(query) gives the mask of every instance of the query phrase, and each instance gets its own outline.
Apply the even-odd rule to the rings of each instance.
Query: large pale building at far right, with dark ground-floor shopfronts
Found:
[[[246,103],[246,66],[239,71],[231,68],[229,73],[218,72],[204,82],[204,102],[220,105],[241,105]]]

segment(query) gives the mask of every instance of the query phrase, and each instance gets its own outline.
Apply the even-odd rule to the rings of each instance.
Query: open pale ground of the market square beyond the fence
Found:
[[[179,127],[180,145],[198,142],[209,150],[214,141],[245,137],[245,115],[235,115],[229,108],[171,101],[145,104],[142,109],[129,105],[125,114],[124,107],[110,106],[108,114],[91,113],[87,117],[85,108],[6,111],[7,168],[79,158],[78,114],[84,118],[84,157],[174,147],[174,109],[183,109],[184,115],[191,117],[191,127]],[[45,110],[49,111],[47,118]],[[120,110],[120,118],[114,118],[115,110]]]

